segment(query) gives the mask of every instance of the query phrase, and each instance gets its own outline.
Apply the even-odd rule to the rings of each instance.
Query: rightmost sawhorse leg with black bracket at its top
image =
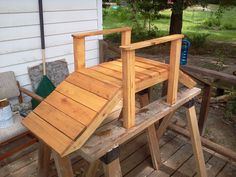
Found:
[[[185,107],[187,108],[186,115],[188,121],[188,129],[190,132],[193,153],[196,161],[197,173],[199,177],[207,177],[194,100],[192,99],[187,102],[185,104]]]

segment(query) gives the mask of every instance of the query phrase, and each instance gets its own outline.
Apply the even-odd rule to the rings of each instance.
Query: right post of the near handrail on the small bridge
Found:
[[[170,70],[167,89],[167,103],[174,104],[177,100],[179,65],[182,39],[174,40],[170,46]]]

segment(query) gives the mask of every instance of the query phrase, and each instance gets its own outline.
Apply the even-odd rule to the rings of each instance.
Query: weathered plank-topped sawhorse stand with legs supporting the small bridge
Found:
[[[147,132],[153,167],[154,169],[158,169],[161,164],[159,139],[169,125],[173,112],[184,105],[186,107],[188,128],[191,133],[196,169],[199,176],[206,177],[205,162],[193,102],[193,98],[198,94],[200,94],[200,89],[198,88],[184,89],[178,93],[177,102],[171,106],[166,104],[164,98],[145,106],[136,114],[136,124],[130,129],[122,127],[120,120],[113,120],[102,125],[96,131],[97,133],[100,132],[100,136],[97,136],[97,133],[95,133],[84,146],[77,151],[77,154],[81,155],[90,163],[90,167],[85,176],[93,177],[96,174],[99,162],[102,161],[107,177],[121,177],[119,145],[145,130]],[[162,122],[156,131],[155,123],[161,119]],[[45,145],[42,145],[39,152],[39,176],[46,177],[48,175],[50,150]],[[69,157],[60,157],[57,153],[53,152],[53,158],[59,177],[74,176]]]

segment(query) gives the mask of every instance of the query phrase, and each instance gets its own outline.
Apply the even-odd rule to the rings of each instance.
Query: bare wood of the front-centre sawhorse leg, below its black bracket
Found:
[[[122,177],[119,158],[109,164],[103,163],[103,169],[106,177]]]

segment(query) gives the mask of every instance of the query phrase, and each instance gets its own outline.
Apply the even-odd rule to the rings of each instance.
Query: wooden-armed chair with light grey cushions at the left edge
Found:
[[[18,98],[19,103],[23,103],[22,93],[38,100],[42,101],[43,98],[35,93],[20,87],[19,82],[16,81],[14,72],[0,73],[0,99],[14,99]],[[13,125],[9,128],[0,128],[0,148],[8,145],[11,142],[16,141],[24,136],[29,136],[30,132],[21,125],[22,116],[19,113],[13,115]],[[17,146],[16,148],[7,150],[5,153],[0,154],[0,161],[21,151],[22,149],[32,145],[37,141],[36,138],[32,138],[24,144]]]

